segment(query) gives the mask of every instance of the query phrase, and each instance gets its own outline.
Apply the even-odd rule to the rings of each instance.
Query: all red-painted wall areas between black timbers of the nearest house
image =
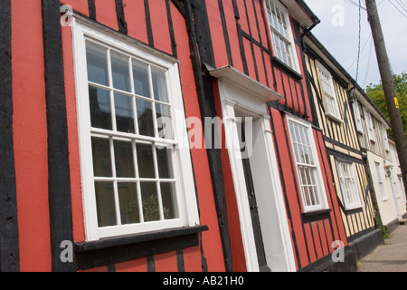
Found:
[[[128,24],[128,35],[147,43],[147,24],[144,0],[124,0],[124,14]],[[208,18],[213,37],[213,52],[216,65],[228,64],[226,43],[221,22],[221,12],[216,1],[207,1]],[[238,25],[236,23],[232,0],[224,0],[223,9],[226,31],[232,51],[233,66],[244,71],[247,63],[249,75],[259,82],[269,85],[271,89],[285,96],[280,104],[289,110],[299,111],[311,118],[310,103],[305,79],[297,80],[289,73],[272,66],[270,55],[269,27],[264,24],[265,14],[260,5],[263,1],[237,1],[240,18],[238,24],[249,38],[241,39],[244,52],[241,51]],[[87,0],[63,0],[73,9],[85,16],[89,15]],[[150,19],[156,49],[172,53],[171,39],[166,17],[165,1],[149,0]],[[253,5],[254,4],[254,5]],[[21,9],[24,7],[24,9]],[[185,116],[200,116],[199,102],[194,82],[188,34],[185,19],[170,2],[176,50],[179,64],[182,92],[185,100]],[[45,111],[45,92],[43,80],[43,32],[41,20],[41,3],[39,1],[12,1],[13,42],[13,101],[14,101],[14,158],[17,182],[17,209],[20,240],[20,266],[23,271],[51,270],[51,245],[48,209],[48,170],[47,170],[47,126]],[[255,14],[258,16],[256,22]],[[37,15],[37,17],[33,17]],[[96,19],[99,23],[118,30],[118,20],[114,0],[96,0]],[[292,23],[294,24],[294,23]],[[294,25],[292,25],[294,27]],[[260,45],[259,45],[260,43]],[[82,192],[80,185],[80,158],[78,143],[78,124],[76,115],[76,92],[72,54],[71,28],[62,28],[63,61],[65,73],[65,93],[68,118],[68,136],[71,174],[71,202],[74,242],[85,240]],[[300,49],[296,47],[299,66],[302,69]],[[244,59],[244,60],[243,60]],[[263,63],[264,60],[264,63]],[[257,73],[256,73],[257,68]],[[274,81],[275,80],[275,81]],[[275,87],[274,87],[275,85]],[[213,83],[216,111],[222,118],[219,92]],[[275,127],[275,143],[279,148],[281,160],[292,156],[289,146],[287,122],[280,111],[271,109],[271,121]],[[203,136],[202,136],[203,137]],[[293,247],[298,268],[326,256],[333,250],[330,247],[332,236],[345,242],[345,230],[336,200],[332,174],[328,166],[327,153],[322,135],[315,132],[321,169],[324,171],[324,184],[327,189],[329,205],[333,209],[331,220],[333,227],[325,220],[304,224],[301,219],[301,207],[296,192],[296,173],[284,163],[282,182],[286,186],[286,198],[291,213],[289,227],[292,229]],[[203,138],[204,140],[204,138]],[[222,139],[224,140],[224,138]],[[213,187],[206,150],[191,150],[194,174],[196,177],[197,197],[199,199],[201,224],[209,227],[202,234],[201,244],[183,250],[185,271],[202,271],[202,256],[209,271],[224,271],[221,236],[216,216]],[[230,224],[232,264],[236,271],[245,271],[244,250],[241,242],[239,215],[232,183],[229,156],[222,150],[222,169],[228,218]],[[295,236],[295,238],[294,238]],[[328,237],[324,239],[324,237]],[[298,254],[297,254],[298,253]],[[176,253],[170,252],[155,256],[156,271],[176,271]],[[115,265],[117,271],[147,271],[147,259]],[[107,271],[102,266],[93,271]]]

